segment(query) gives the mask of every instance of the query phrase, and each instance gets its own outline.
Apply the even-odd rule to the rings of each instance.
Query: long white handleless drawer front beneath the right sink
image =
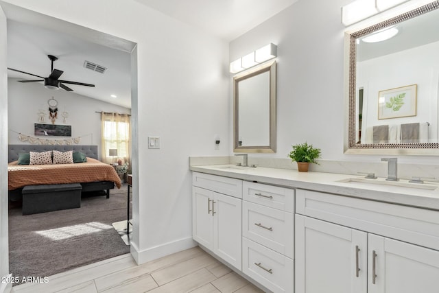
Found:
[[[439,212],[296,190],[296,213],[439,250]]]

